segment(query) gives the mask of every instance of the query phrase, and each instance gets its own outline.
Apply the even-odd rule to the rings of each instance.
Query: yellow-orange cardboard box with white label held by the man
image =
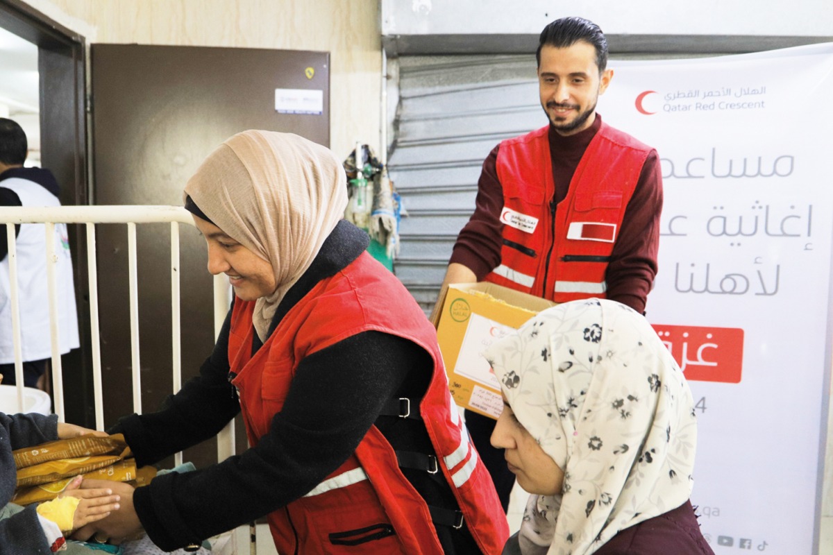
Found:
[[[456,404],[493,419],[501,414],[500,384],[482,353],[495,339],[555,304],[492,283],[448,286],[436,336]]]

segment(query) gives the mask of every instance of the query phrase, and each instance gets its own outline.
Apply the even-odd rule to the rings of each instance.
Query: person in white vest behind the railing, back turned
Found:
[[[26,133],[17,122],[0,117],[0,206],[61,206],[52,172],[23,167],[27,157]],[[23,384],[44,388],[43,376],[52,356],[49,336],[49,298],[44,225],[15,225],[17,236],[17,285],[20,306],[20,339]],[[57,314],[61,354],[78,347],[78,320],[72,260],[67,226],[55,225],[57,254]],[[9,281],[7,228],[0,225],[0,374],[6,384],[16,384],[12,301]]]

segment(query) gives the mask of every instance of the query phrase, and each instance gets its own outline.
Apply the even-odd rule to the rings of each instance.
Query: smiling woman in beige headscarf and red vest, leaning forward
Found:
[[[235,300],[200,376],[113,431],[155,463],[242,412],[252,447],[114,492],[125,508],[103,533],[141,527],[172,550],[267,515],[285,554],[501,552],[506,518],[433,327],[342,220],[346,183],[327,148],[272,131],[232,136],[188,181]]]

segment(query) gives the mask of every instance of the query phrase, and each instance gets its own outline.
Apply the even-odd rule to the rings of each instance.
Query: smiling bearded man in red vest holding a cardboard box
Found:
[[[556,302],[600,297],[644,313],[659,245],[659,157],[596,113],[613,70],[595,23],[551,22],[536,58],[549,125],[486,157],[442,286],[486,280]],[[489,444],[495,421],[466,411],[466,424],[506,510],[515,479]]]

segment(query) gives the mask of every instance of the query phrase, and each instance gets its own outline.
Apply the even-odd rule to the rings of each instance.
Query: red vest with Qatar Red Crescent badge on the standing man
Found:
[[[556,210],[549,126],[501,142],[501,265],[486,281],[555,300],[605,298],[605,274],[651,147],[602,122]]]

